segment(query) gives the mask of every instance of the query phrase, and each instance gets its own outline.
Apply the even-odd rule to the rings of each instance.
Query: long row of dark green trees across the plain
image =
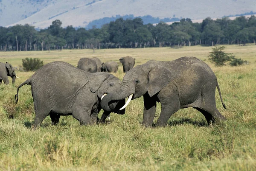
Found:
[[[37,31],[28,24],[0,27],[1,51],[62,50],[92,48],[146,48],[166,46],[223,45],[256,43],[256,17],[228,17],[201,23],[189,18],[167,25],[143,25],[141,18],[119,18],[102,28],[67,28],[55,20],[49,28]]]

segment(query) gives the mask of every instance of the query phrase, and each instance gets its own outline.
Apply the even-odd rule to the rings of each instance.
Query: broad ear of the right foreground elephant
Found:
[[[155,65],[148,73],[148,95],[152,97],[171,81],[171,72],[165,67]]]

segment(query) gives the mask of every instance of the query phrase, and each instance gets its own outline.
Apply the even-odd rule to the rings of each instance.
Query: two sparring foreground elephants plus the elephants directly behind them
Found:
[[[205,62],[185,56],[167,62],[150,60],[133,68],[135,61],[127,62],[127,59],[130,57],[120,59],[126,71],[122,81],[111,73],[99,72],[113,71],[111,62],[108,66],[107,62],[104,65],[97,59],[82,58],[77,67],[58,61],[45,64],[17,87],[15,104],[20,87],[31,85],[34,129],[48,115],[53,125],[58,123],[61,115],[72,115],[81,125],[104,123],[111,112],[125,114],[129,102],[141,96],[144,126],[152,126],[157,102],[161,104],[157,126],[165,126],[173,113],[187,107],[201,112],[208,124],[226,120],[216,108],[217,87],[226,109],[217,78]],[[86,62],[96,64],[96,67],[83,67]],[[85,68],[89,72],[84,71]],[[101,109],[104,112],[99,119]]]

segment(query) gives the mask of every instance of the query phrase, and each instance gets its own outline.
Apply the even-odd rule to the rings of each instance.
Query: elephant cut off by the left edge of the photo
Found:
[[[8,62],[0,62],[0,84],[2,84],[2,80],[4,84],[9,84],[8,76],[12,77],[12,84],[14,84],[16,80],[15,68]]]

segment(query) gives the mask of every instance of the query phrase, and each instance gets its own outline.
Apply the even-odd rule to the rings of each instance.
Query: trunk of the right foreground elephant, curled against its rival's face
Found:
[[[127,81],[123,81],[119,93],[109,93],[108,95],[105,95],[104,98],[102,98],[101,107],[105,111],[111,111],[113,110],[111,107],[109,107],[109,103],[111,101],[123,100],[131,94],[134,94],[134,92],[135,86]]]

